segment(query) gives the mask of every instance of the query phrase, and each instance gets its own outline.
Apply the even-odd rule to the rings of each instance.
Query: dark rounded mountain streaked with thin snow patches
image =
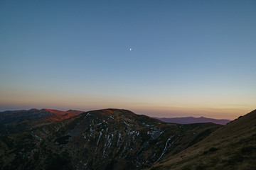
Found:
[[[0,169],[143,169],[220,126],[164,123],[119,109],[90,111],[0,135]]]

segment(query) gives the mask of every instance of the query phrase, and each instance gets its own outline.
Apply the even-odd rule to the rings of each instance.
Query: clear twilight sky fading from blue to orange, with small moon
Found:
[[[256,108],[256,1],[0,1],[0,111]]]

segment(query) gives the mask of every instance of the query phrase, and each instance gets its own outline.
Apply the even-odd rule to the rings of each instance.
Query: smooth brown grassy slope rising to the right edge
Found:
[[[151,167],[157,169],[256,169],[256,110],[201,142]]]

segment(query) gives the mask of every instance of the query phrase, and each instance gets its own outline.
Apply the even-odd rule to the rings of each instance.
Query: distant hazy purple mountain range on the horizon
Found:
[[[184,117],[184,118],[156,118],[162,120],[166,123],[178,123],[178,124],[191,124],[191,123],[215,123],[219,125],[225,125],[230,122],[227,119],[213,119],[213,118],[193,118],[193,117]]]

